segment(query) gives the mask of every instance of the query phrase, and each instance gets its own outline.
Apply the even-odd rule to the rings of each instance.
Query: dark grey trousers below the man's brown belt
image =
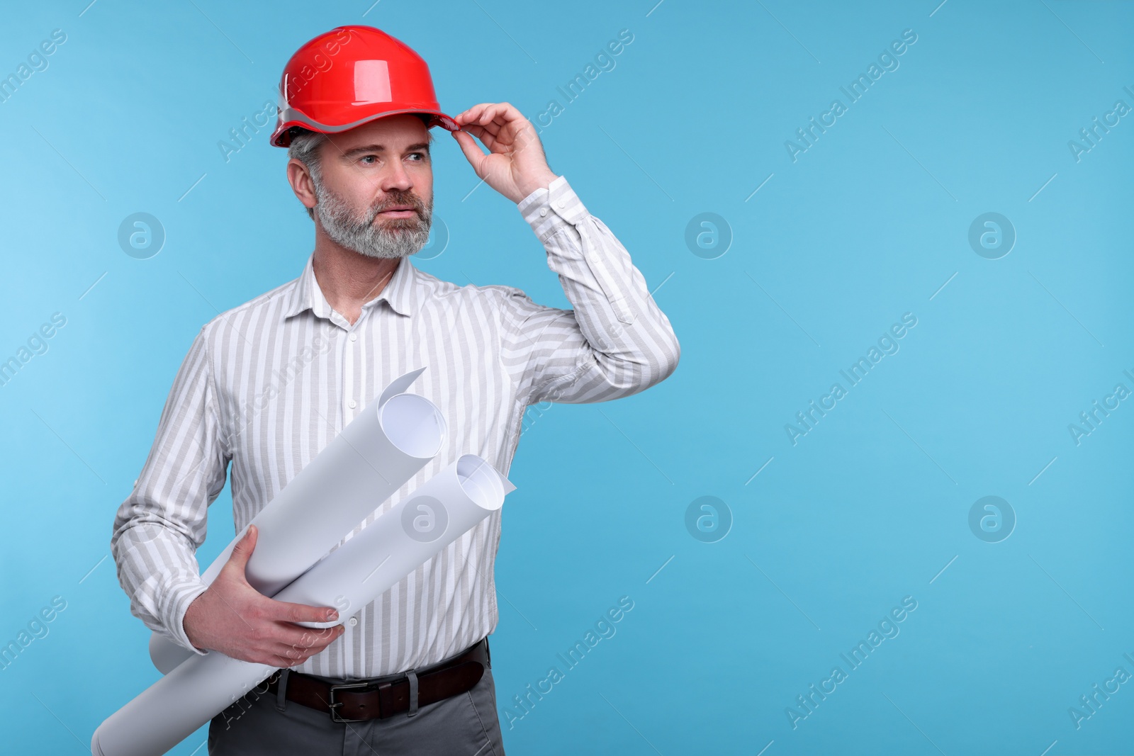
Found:
[[[280,680],[280,694],[286,681]],[[257,693],[265,689],[253,688],[212,719],[209,756],[503,756],[491,669],[468,693],[421,706],[413,716],[403,713],[365,722],[333,722],[327,712],[282,695]]]

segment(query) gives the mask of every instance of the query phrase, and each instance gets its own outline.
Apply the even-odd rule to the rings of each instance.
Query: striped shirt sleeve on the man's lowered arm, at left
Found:
[[[204,543],[208,508],[225,487],[231,459],[220,433],[206,329],[181,363],[150,456],[118,508],[110,540],[130,612],[197,654],[204,652],[193,646],[183,622],[206,587],[195,552]]]

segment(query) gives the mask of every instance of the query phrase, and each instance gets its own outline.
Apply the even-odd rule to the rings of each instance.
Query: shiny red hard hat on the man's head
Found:
[[[428,114],[429,128],[460,128],[441,112],[421,56],[373,26],[339,26],[304,44],[284,67],[272,144],[288,146],[293,126],[339,134],[396,113]]]

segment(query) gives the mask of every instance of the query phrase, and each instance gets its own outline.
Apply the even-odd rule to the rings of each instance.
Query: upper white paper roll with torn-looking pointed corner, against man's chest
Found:
[[[441,411],[424,397],[404,393],[424,369],[391,381],[252,518],[248,525],[260,530],[245,570],[252,587],[274,596],[441,450],[447,431]],[[247,530],[246,525],[204,571],[206,585]],[[163,673],[195,655],[163,632],[150,637],[150,659]]]

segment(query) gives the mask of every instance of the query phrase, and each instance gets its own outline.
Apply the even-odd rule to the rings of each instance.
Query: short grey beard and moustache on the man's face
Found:
[[[322,186],[321,181],[313,184],[319,222],[327,236],[340,247],[367,257],[391,258],[417,254],[429,241],[433,220],[432,198],[424,207],[418,206],[417,218],[395,218],[375,224],[374,219],[382,211],[381,206],[371,207],[365,215],[358,218],[342,197]]]

